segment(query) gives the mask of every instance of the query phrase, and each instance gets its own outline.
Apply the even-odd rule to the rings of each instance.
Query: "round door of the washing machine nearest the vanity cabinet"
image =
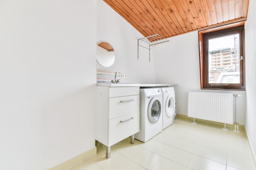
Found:
[[[155,124],[161,115],[161,102],[158,97],[153,97],[148,104],[148,120]]]

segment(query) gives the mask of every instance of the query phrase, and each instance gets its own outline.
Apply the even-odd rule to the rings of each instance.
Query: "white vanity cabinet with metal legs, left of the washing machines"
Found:
[[[110,148],[139,132],[139,87],[97,86],[96,141]]]

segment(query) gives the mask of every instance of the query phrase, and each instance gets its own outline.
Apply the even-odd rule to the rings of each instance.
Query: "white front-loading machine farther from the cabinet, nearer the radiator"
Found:
[[[175,113],[175,91],[173,87],[162,87],[163,94],[163,129],[170,126]]]

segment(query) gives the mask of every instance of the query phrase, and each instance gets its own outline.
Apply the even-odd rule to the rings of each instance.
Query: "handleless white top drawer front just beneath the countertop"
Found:
[[[139,87],[110,87],[109,97],[139,95]]]

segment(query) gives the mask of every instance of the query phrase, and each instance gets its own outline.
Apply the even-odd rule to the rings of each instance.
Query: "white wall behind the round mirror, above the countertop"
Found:
[[[143,35],[103,0],[97,0],[97,42],[109,42],[116,53],[112,66],[104,68],[97,63],[97,68],[127,74],[127,78],[121,78],[121,83],[155,83],[153,56],[148,62],[148,50],[141,47],[137,60],[139,38],[143,38]]]

